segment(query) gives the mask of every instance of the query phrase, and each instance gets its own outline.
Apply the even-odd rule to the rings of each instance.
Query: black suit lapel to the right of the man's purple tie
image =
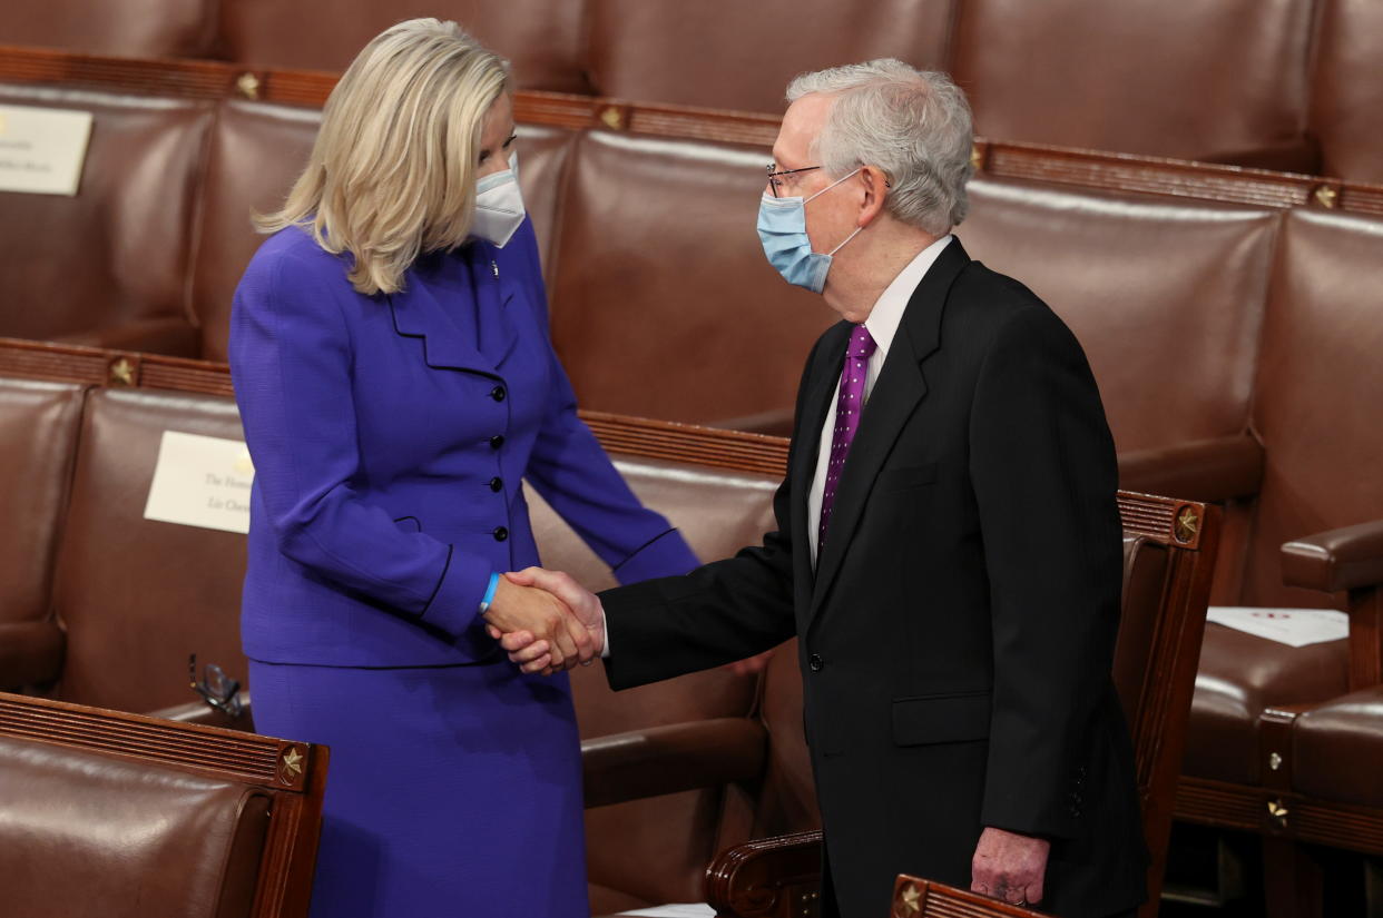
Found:
[[[884,460],[893,449],[907,419],[927,395],[922,361],[940,346],[946,294],[956,275],[968,263],[969,256],[961,247],[960,239],[952,241],[936,263],[928,268],[907,301],[903,321],[893,336],[884,369],[874,382],[855,442],[851,444],[851,452],[845,459],[845,469],[841,471],[835,506],[831,510],[830,538],[816,561],[816,583],[808,621],[816,617],[830,592]]]

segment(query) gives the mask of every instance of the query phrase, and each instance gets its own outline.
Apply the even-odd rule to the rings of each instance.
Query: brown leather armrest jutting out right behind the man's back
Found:
[[[1119,453],[1119,487],[1187,500],[1228,500],[1259,492],[1263,447],[1249,434]]]

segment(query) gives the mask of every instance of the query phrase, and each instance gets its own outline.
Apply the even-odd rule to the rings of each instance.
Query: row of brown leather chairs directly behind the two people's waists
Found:
[[[199,719],[173,709],[195,701],[188,657],[246,672],[236,640],[245,541],[147,518],[145,506],[165,431],[241,438],[235,405],[221,394],[224,369],[19,343],[0,344],[0,459],[11,470],[0,488],[11,520],[0,552],[10,574],[0,579],[0,688]],[[108,368],[136,384],[90,382]],[[610,415],[588,423],[635,492],[703,559],[725,557],[773,525],[783,441]],[[538,495],[530,503],[546,564],[595,589],[613,585]],[[1141,780],[1160,800],[1151,831],[1164,838],[1218,512],[1135,495],[1123,507],[1116,679],[1147,759]],[[791,647],[762,680],[716,669],[614,697],[599,669],[573,677],[597,914],[698,900],[718,852],[819,825]],[[1156,704],[1140,702],[1145,693]],[[640,852],[635,867],[631,847]]]

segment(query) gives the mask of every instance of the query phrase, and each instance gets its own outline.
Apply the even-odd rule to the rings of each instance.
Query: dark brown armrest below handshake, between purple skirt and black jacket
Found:
[[[768,733],[750,718],[689,720],[581,744],[586,806],[757,780]]]

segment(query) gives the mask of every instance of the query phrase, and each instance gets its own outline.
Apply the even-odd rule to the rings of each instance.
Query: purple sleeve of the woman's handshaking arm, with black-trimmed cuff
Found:
[[[404,618],[459,635],[490,564],[408,532],[361,500],[351,344],[332,285],[289,256],[256,264],[235,294],[230,346],[254,488],[286,557]]]

